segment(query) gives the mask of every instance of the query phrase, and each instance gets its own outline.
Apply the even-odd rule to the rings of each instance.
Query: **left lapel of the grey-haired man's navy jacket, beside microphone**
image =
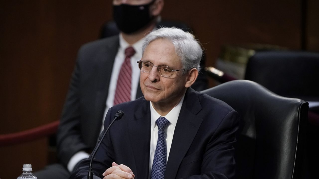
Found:
[[[130,119],[127,123],[137,178],[148,178],[151,140],[150,127],[150,102],[143,99],[143,102],[134,113],[134,118]]]

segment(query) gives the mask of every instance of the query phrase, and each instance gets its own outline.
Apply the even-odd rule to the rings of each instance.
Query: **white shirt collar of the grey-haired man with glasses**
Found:
[[[177,119],[178,119],[179,113],[181,112],[184,97],[185,97],[185,94],[182,97],[181,101],[171,111],[169,111],[166,116],[162,116],[162,117],[165,117],[172,125],[174,125],[174,127],[177,124]],[[161,117],[161,115],[154,109],[152,102],[150,102],[150,105],[151,105],[151,128],[153,129],[156,126],[155,121],[159,117]]]

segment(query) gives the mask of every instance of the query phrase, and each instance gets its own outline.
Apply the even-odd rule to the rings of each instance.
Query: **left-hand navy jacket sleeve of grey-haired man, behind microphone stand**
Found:
[[[104,130],[103,132],[101,132],[99,140],[104,134],[105,129],[110,124],[111,111],[112,111],[112,108],[108,110],[108,113],[104,121]],[[94,179],[103,178],[102,174],[105,172],[106,169],[110,168],[112,166],[112,162],[115,161],[115,159],[112,156],[115,156],[115,154],[114,154],[113,145],[110,138],[110,133],[108,132],[104,140],[102,140],[100,147],[97,150],[92,163]],[[88,159],[85,159],[79,162],[76,169],[72,172],[70,179],[87,178],[91,157],[92,157],[92,154],[90,155]]]

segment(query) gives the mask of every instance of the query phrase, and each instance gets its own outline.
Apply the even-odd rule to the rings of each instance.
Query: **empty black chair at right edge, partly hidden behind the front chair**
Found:
[[[274,93],[309,102],[305,156],[308,178],[319,178],[319,53],[304,51],[257,52],[246,68],[245,79]]]

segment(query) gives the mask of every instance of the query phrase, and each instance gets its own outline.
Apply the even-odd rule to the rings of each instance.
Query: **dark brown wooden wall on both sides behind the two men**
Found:
[[[317,0],[166,0],[162,12],[163,20],[189,25],[206,66],[216,66],[227,47],[248,44],[318,52],[318,17]],[[99,39],[111,20],[111,1],[0,1],[0,134],[60,118],[78,48]],[[18,177],[24,163],[38,170],[55,161],[49,142],[0,146],[0,177]]]

